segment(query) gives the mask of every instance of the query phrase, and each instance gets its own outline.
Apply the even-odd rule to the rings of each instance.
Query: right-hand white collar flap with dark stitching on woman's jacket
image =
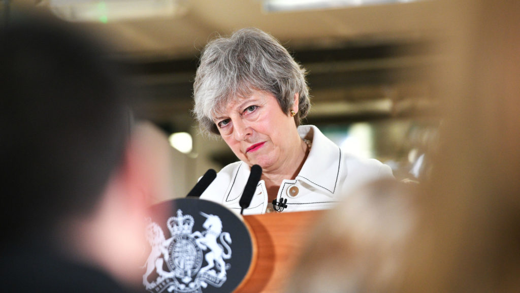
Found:
[[[300,137],[310,139],[313,145],[296,180],[333,195],[340,177],[341,149],[314,125],[298,126],[298,133]]]

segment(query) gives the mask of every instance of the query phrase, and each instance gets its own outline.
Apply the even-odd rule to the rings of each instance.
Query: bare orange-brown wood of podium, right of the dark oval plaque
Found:
[[[233,293],[281,293],[323,211],[246,215],[253,238],[253,262]]]

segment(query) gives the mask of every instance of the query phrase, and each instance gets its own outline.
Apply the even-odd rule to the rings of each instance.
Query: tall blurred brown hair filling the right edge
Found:
[[[520,2],[451,4],[444,143],[401,291],[520,288]],[[427,285],[426,285],[427,284]]]

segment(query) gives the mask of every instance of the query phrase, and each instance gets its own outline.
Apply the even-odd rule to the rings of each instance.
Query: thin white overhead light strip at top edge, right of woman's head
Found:
[[[264,0],[268,12],[343,8],[364,5],[407,3],[422,0]]]

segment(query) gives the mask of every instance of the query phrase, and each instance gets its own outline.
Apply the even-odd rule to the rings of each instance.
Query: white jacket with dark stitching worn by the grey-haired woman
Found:
[[[314,125],[299,126],[298,133],[313,144],[296,179],[283,180],[280,185],[277,201],[287,199],[284,212],[327,209],[339,201],[341,196],[363,184],[393,178],[392,169],[388,165],[375,159],[360,159],[346,154]],[[242,161],[227,165],[218,172],[215,181],[201,198],[218,202],[240,213],[239,200],[250,170],[249,165]],[[267,190],[261,180],[251,205],[243,214],[263,214],[266,211],[272,211],[272,206],[267,201]]]

